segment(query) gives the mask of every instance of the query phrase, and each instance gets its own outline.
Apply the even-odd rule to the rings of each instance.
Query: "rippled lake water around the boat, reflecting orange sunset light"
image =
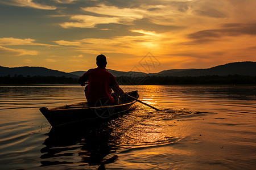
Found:
[[[256,87],[121,87],[163,111],[137,103],[49,135],[39,108],[83,101],[83,87],[1,86],[0,169],[256,169]]]

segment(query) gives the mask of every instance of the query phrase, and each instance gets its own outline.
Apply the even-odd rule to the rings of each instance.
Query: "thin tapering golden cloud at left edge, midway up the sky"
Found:
[[[34,42],[33,39],[15,39],[13,37],[6,37],[0,38],[0,45],[7,46],[7,45],[42,45],[42,46],[56,46],[56,45],[49,45],[49,44],[40,44]]]

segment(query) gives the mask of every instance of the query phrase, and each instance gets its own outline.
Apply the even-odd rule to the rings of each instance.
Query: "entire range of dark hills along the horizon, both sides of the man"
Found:
[[[206,76],[206,75],[249,75],[256,76],[256,62],[234,62],[212,67],[209,69],[172,69],[159,73],[142,73],[134,71],[117,71],[108,69],[115,77],[120,76]],[[0,76],[65,76],[67,78],[79,78],[86,71],[73,71],[65,73],[63,71],[51,70],[44,67],[2,67],[0,66]]]

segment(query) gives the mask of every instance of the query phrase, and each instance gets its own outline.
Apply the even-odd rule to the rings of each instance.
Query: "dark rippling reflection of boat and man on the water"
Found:
[[[41,150],[41,166],[78,164],[105,169],[105,164],[118,158],[112,131],[108,123],[51,129]]]

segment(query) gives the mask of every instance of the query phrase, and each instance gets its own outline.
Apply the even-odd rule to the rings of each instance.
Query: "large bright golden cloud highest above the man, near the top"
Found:
[[[182,13],[175,10],[174,6],[164,5],[144,5],[136,8],[121,8],[117,6],[99,5],[94,7],[82,7],[85,12],[91,15],[71,15],[70,20],[77,22],[61,23],[63,28],[94,28],[97,24],[124,24],[133,25],[134,21],[148,19],[148,22],[158,25],[173,25],[173,20],[180,17]]]

